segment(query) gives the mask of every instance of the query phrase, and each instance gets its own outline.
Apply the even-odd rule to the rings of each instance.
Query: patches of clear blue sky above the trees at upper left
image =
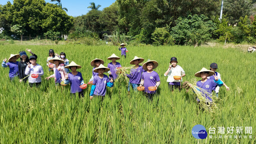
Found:
[[[10,1],[12,3],[13,0],[0,0],[0,4],[4,5]],[[50,2],[50,0],[45,0],[46,2]],[[67,14],[72,16],[79,16],[82,14],[86,14],[90,9],[87,8],[90,5],[90,2],[94,2],[95,5],[101,5],[98,9],[102,10],[105,7],[111,5],[115,0],[61,0],[62,7],[67,8]],[[50,2],[56,3],[56,2]]]

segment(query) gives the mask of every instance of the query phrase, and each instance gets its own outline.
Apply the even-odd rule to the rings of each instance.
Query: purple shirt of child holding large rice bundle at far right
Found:
[[[212,79],[207,79],[205,82],[201,82],[201,80],[196,82],[196,86],[201,87],[203,89],[205,89],[205,91],[207,91],[208,93],[210,93],[210,95],[204,93],[202,91],[202,96],[204,96],[206,98],[206,100],[208,101],[212,101],[211,99],[211,91],[214,90],[217,86],[217,84],[214,82],[214,80]],[[197,101],[200,101],[198,98],[196,98]]]

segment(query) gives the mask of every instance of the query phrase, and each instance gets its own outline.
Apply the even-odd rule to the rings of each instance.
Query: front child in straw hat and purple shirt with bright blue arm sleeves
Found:
[[[108,76],[103,74],[103,72],[107,72],[109,70],[109,68],[102,64],[93,70],[94,72],[98,72],[98,74],[94,75],[93,77],[92,84],[94,85],[91,86],[90,99],[92,99],[93,96],[100,96],[101,100],[103,100],[106,94],[106,86],[113,86],[113,78],[111,77],[109,80]]]

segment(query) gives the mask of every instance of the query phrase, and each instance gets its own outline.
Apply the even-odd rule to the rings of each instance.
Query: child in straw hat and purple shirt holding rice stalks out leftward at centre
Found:
[[[130,61],[130,64],[135,64],[133,68],[130,69],[130,74],[126,74],[129,78],[128,83],[128,91],[130,91],[130,85],[133,87],[133,90],[137,90],[137,86],[139,86],[141,73],[145,70],[142,68],[141,65],[138,65],[144,60],[144,58],[134,56],[134,58]]]

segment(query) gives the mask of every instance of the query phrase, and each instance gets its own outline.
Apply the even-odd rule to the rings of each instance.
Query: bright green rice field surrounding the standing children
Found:
[[[112,53],[120,56],[118,46],[101,45],[0,45],[0,58],[10,53],[31,49],[37,54],[44,75],[38,88],[19,83],[18,78],[9,81],[9,68],[0,70],[0,143],[256,143],[256,53],[249,54],[236,48],[192,46],[129,46],[126,59],[117,60],[122,66],[136,55],[156,60],[154,69],[160,76],[158,95],[148,102],[142,92],[127,92],[125,81],[107,87],[101,102],[89,100],[90,86],[84,90],[84,98],[71,98],[70,87],[55,86],[46,66],[48,50],[65,52],[66,58],[81,65],[77,69],[85,82],[91,77],[94,58],[111,62]],[[30,56],[30,53],[27,52]],[[200,80],[194,73],[210,63],[218,64],[217,72],[230,87],[220,87],[217,108],[209,112],[199,108],[191,91],[168,90],[167,77],[163,73],[175,56],[186,75],[183,81]],[[201,124],[208,133],[205,139],[191,134],[194,125]],[[218,127],[224,127],[224,133]],[[233,133],[227,127],[233,126]],[[251,126],[251,133],[245,127]],[[209,134],[209,128],[215,128]],[[236,127],[242,127],[238,133]],[[241,133],[242,132],[242,133]],[[247,131],[248,132],[248,131]],[[212,137],[210,137],[212,135]],[[226,136],[227,137],[226,137]],[[231,135],[231,137],[230,137]],[[236,136],[235,136],[236,135]],[[221,137],[222,136],[222,137]]]

